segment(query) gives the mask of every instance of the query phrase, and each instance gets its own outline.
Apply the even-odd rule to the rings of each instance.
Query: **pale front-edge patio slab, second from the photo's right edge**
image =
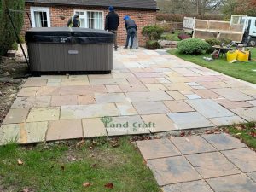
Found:
[[[210,119],[212,123],[216,126],[224,126],[224,125],[234,125],[234,124],[243,124],[246,123],[244,119],[241,119],[238,116],[232,117],[221,117],[221,118],[212,118]]]

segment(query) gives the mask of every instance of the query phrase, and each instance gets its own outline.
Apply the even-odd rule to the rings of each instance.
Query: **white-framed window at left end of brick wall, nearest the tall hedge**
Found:
[[[32,7],[31,20],[33,27],[50,27],[49,8]]]

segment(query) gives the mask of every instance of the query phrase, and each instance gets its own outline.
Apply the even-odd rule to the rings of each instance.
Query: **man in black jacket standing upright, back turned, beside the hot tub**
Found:
[[[112,32],[115,36],[114,38],[114,50],[117,51],[118,45],[117,45],[117,30],[119,27],[119,15],[115,13],[113,6],[110,6],[108,8],[109,13],[106,16],[105,21],[105,30],[108,32]]]

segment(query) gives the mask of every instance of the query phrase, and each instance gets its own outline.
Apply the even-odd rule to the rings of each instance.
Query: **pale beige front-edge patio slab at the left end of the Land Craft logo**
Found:
[[[107,130],[100,118],[82,119],[84,137],[102,137],[107,136]]]

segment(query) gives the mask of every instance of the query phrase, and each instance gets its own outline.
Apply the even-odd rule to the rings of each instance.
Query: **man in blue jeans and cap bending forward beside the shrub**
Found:
[[[135,34],[137,32],[137,25],[136,25],[135,21],[131,20],[131,18],[128,15],[126,15],[124,17],[124,20],[125,20],[125,28],[126,28],[126,32],[127,32],[125,49],[128,49],[128,44],[129,44],[130,38],[131,38],[130,49],[132,49],[133,40],[134,40]]]

